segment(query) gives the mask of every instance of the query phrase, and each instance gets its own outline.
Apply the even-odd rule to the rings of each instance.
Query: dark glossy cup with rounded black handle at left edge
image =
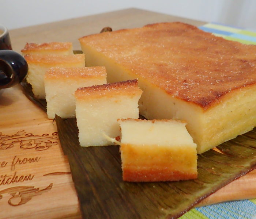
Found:
[[[11,49],[9,32],[6,27],[0,25],[0,89],[18,84],[27,75],[26,60]]]

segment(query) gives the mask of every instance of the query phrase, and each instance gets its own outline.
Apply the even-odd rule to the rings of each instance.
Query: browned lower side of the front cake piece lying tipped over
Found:
[[[197,178],[196,169],[184,169],[182,166],[183,164],[191,165],[191,167],[196,165],[196,150],[192,151],[191,147],[184,145],[183,147],[176,147],[172,151],[168,151],[165,146],[150,145],[147,150],[150,150],[151,156],[155,154],[152,148],[154,148],[155,153],[162,155],[158,161],[144,160],[144,158],[138,155],[144,154],[143,150],[146,149],[145,147],[140,149],[136,145],[121,143],[121,158],[125,157],[125,160],[122,160],[124,181],[177,181]],[[182,166],[182,169],[180,169],[180,166]]]

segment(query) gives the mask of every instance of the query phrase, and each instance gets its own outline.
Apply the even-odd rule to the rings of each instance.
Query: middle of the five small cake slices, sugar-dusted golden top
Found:
[[[85,68],[49,68],[44,77],[47,115],[54,119],[75,117],[75,91],[107,83],[106,68],[103,66]]]

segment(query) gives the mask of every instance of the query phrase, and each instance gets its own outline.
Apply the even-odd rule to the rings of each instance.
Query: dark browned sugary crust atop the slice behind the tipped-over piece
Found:
[[[113,97],[124,95],[124,98],[141,95],[138,80],[127,80],[109,84],[94,85],[91,87],[78,88],[75,92],[76,99],[93,99],[100,97]]]

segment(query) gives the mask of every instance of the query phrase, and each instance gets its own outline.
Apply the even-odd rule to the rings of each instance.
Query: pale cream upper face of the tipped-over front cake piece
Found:
[[[135,120],[118,119],[122,130],[121,143],[132,145],[156,145],[182,147],[185,145],[196,148],[185,125],[176,120]]]

